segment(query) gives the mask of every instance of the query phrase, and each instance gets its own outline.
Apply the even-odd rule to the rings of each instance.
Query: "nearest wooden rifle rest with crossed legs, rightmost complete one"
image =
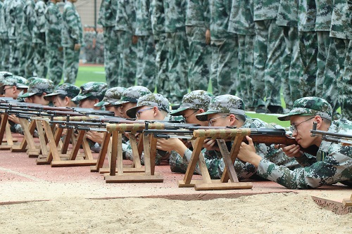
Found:
[[[183,181],[178,181],[177,184],[180,188],[194,187],[195,190],[229,190],[229,189],[249,189],[252,188],[250,182],[239,182],[236,171],[234,170],[234,161],[237,158],[239,147],[244,136],[248,136],[250,131],[246,129],[199,129],[194,130],[195,142],[194,150],[191,155],[191,160],[187,167],[186,174]],[[208,168],[204,156],[201,153],[203,143],[206,138],[216,139],[220,148],[222,158],[225,162],[225,169],[222,173],[222,178],[219,180],[212,180],[210,178]],[[230,152],[227,150],[225,140],[231,139],[233,141]],[[196,163],[199,162],[201,169],[201,180],[191,180]],[[230,179],[230,182],[228,182]]]

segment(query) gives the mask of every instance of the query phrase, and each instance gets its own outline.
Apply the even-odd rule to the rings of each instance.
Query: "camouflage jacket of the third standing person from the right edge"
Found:
[[[315,0],[298,0],[298,31],[315,31],[316,15]]]

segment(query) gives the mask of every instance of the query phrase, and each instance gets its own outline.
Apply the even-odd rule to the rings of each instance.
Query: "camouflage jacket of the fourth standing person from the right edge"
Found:
[[[298,0],[281,0],[277,12],[276,24],[298,27]]]

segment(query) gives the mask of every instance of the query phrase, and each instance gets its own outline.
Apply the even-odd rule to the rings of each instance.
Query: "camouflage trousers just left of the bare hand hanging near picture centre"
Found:
[[[189,89],[207,91],[210,80],[211,50],[206,44],[206,27],[187,26],[186,34],[189,44]]]

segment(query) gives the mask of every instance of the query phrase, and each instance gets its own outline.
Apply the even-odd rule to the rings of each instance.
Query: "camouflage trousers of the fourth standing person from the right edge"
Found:
[[[284,102],[286,108],[291,109],[294,104],[291,92],[297,89],[298,86],[291,85],[289,70],[291,67],[292,54],[294,46],[298,44],[298,29],[297,27],[282,27],[284,32],[285,52],[282,57],[282,92],[284,94]],[[292,82],[297,82],[295,79]]]

